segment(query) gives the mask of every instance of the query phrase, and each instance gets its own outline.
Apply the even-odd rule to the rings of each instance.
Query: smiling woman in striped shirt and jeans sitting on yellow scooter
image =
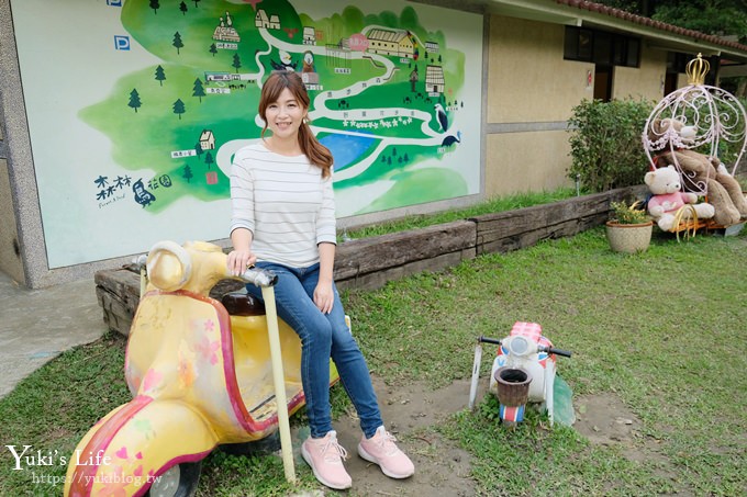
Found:
[[[332,280],[336,231],[330,150],[308,125],[309,94],[296,72],[272,72],[259,100],[263,140],[238,150],[231,170],[228,270],[275,271],[278,315],[301,338],[301,382],[311,436],[301,453],[324,485],[349,488],[347,452],[332,429],[330,358],[360,418],[358,454],[392,478],[414,473],[383,427],[366,360],[345,324]],[[265,138],[265,132],[272,132]],[[248,285],[249,293],[261,297]]]

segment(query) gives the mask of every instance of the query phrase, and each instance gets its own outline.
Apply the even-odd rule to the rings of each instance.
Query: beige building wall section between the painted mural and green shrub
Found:
[[[486,196],[570,185],[566,121],[593,64],[564,60],[562,25],[490,18]]]

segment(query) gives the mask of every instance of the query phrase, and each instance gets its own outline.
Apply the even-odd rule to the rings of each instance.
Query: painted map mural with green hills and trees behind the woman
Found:
[[[225,238],[232,156],[259,139],[272,70],[306,83],[338,217],[479,193],[479,15],[399,0],[11,9],[49,268]]]

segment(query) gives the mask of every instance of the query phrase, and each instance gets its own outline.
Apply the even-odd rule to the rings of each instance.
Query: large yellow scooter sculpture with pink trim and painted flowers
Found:
[[[222,249],[202,241],[156,244],[147,276],[125,355],[133,399],[79,442],[65,496],[191,496],[215,447],[259,441],[278,429],[293,481],[288,416],[305,403],[301,342],[277,319],[277,276],[254,268],[232,276]],[[242,292],[222,303],[211,298],[224,279],[260,286],[265,306]],[[330,368],[334,383],[339,376]]]

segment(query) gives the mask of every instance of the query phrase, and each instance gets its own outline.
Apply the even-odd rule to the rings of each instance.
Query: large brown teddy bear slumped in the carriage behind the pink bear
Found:
[[[684,190],[704,191],[715,210],[713,219],[717,224],[731,226],[739,223],[740,218],[747,217],[747,200],[742,193],[742,185],[717,158],[687,148],[694,135],[694,127],[684,126],[681,121],[655,120],[650,125],[648,139],[657,145],[661,140],[666,144],[656,156],[657,168],[673,165],[682,172]],[[674,149],[667,143],[672,136],[678,142],[678,148]],[[682,148],[679,148],[680,145]]]

